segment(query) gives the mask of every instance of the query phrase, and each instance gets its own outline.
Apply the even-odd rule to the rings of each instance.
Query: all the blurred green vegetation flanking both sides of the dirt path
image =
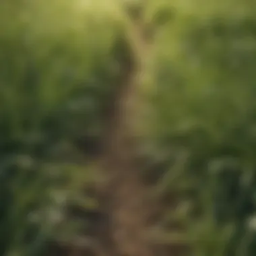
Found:
[[[134,17],[143,9],[129,4]],[[152,197],[164,200],[153,237],[189,245],[189,255],[253,256],[256,3],[146,7],[154,46],[138,154]],[[114,0],[1,2],[0,255],[47,255],[49,240],[92,221],[67,220],[64,205],[98,207],[90,156],[132,44],[126,14]]]

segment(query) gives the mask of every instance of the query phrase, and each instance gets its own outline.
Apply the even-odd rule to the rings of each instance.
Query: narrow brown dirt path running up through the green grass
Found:
[[[139,178],[133,159],[133,117],[137,111],[137,90],[144,72],[143,57],[147,44],[144,28],[134,23],[131,28],[135,52],[121,65],[119,92],[108,116],[102,155],[102,174],[106,182],[100,187],[100,207],[108,216],[108,224],[100,230],[101,254],[107,256],[151,256],[145,239],[149,205],[146,203],[146,186]],[[125,43],[125,42],[124,42]],[[137,55],[137,56],[136,56]]]

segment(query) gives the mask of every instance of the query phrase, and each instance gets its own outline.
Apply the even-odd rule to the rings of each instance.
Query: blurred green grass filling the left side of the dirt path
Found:
[[[3,1],[0,17],[0,254],[35,255],[55,228],[53,189],[81,175],[73,141],[100,136],[122,22],[97,3],[58,0]],[[28,216],[38,209],[40,227]]]

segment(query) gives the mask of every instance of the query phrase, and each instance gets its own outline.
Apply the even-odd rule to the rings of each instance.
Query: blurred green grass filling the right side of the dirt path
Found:
[[[195,255],[255,253],[254,6],[177,1],[158,36],[154,137],[175,151],[169,177],[191,179],[185,187],[199,207],[199,224],[193,217],[189,224]],[[172,190],[179,179],[167,177]]]

